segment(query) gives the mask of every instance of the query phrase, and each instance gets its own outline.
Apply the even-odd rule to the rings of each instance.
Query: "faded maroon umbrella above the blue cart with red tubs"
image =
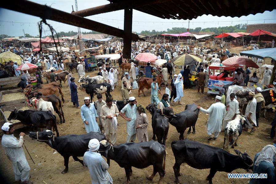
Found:
[[[254,61],[243,56],[236,56],[225,59],[222,64],[227,67],[244,65],[246,67],[259,68]]]

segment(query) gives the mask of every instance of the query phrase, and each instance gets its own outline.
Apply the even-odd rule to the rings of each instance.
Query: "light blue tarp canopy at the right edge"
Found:
[[[275,48],[263,48],[263,49],[256,49],[251,51],[243,51],[240,52],[241,56],[250,56],[250,57],[257,57],[263,59],[271,58],[276,60],[276,47]]]

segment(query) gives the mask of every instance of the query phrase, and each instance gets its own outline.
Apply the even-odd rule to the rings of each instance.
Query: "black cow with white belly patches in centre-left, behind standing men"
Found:
[[[106,82],[99,84],[92,84],[89,82],[87,85],[86,83],[82,83],[79,85],[79,89],[86,92],[87,94],[90,94],[91,100],[93,99],[94,95],[103,93],[105,93],[106,98],[112,98],[112,95],[110,94],[111,86]]]

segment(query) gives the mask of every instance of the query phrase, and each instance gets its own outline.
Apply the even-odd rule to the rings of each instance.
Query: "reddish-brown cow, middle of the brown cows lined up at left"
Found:
[[[26,96],[29,96],[29,94],[33,91],[36,91],[36,93],[41,93],[43,96],[48,96],[51,94],[55,94],[57,97],[59,96],[59,94],[61,95],[61,100],[64,103],[64,98],[63,98],[63,93],[60,89],[60,87],[56,87],[56,86],[51,86],[45,89],[39,89],[39,88],[25,88],[24,93]]]

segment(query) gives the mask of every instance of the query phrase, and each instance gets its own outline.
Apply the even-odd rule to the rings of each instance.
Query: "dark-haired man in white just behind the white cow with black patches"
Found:
[[[228,106],[228,110],[224,116],[223,122],[222,122],[222,127],[221,131],[224,132],[224,128],[226,127],[227,123],[229,121],[232,121],[235,119],[237,114],[240,114],[240,109],[239,109],[239,102],[235,99],[235,94],[231,93],[230,94],[230,100],[226,102],[226,108]]]

